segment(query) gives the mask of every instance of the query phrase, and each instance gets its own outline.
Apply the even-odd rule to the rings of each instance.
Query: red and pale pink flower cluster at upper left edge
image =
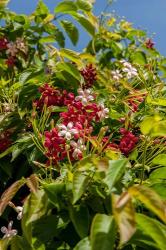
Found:
[[[7,38],[0,38],[0,51],[5,51],[7,59],[5,63],[12,68],[17,61],[17,54],[22,52],[24,55],[28,53],[28,46],[24,38],[18,37],[15,42],[8,41]]]

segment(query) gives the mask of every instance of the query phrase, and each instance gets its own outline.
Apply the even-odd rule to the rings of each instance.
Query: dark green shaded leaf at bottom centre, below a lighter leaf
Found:
[[[78,235],[81,238],[86,237],[89,231],[89,211],[87,206],[70,206],[69,213]]]

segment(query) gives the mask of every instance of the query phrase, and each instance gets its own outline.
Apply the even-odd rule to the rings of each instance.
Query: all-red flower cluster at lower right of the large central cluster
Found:
[[[120,140],[119,149],[124,155],[128,156],[128,154],[134,149],[136,143],[138,142],[138,137],[124,128],[120,129],[120,133],[123,136]]]

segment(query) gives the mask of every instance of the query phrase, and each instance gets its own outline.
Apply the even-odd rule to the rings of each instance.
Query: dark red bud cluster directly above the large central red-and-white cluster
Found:
[[[81,70],[81,75],[84,77],[85,84],[84,88],[91,88],[97,79],[96,69],[92,64],[87,65],[86,68]]]

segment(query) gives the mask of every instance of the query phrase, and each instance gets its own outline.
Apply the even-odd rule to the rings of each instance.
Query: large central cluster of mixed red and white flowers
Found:
[[[66,102],[65,102],[66,103]],[[66,103],[67,111],[61,112],[62,123],[45,132],[46,156],[57,162],[70,156],[70,160],[83,157],[86,138],[93,131],[93,123],[108,116],[104,104],[95,103],[90,89],[78,89],[78,96]]]

